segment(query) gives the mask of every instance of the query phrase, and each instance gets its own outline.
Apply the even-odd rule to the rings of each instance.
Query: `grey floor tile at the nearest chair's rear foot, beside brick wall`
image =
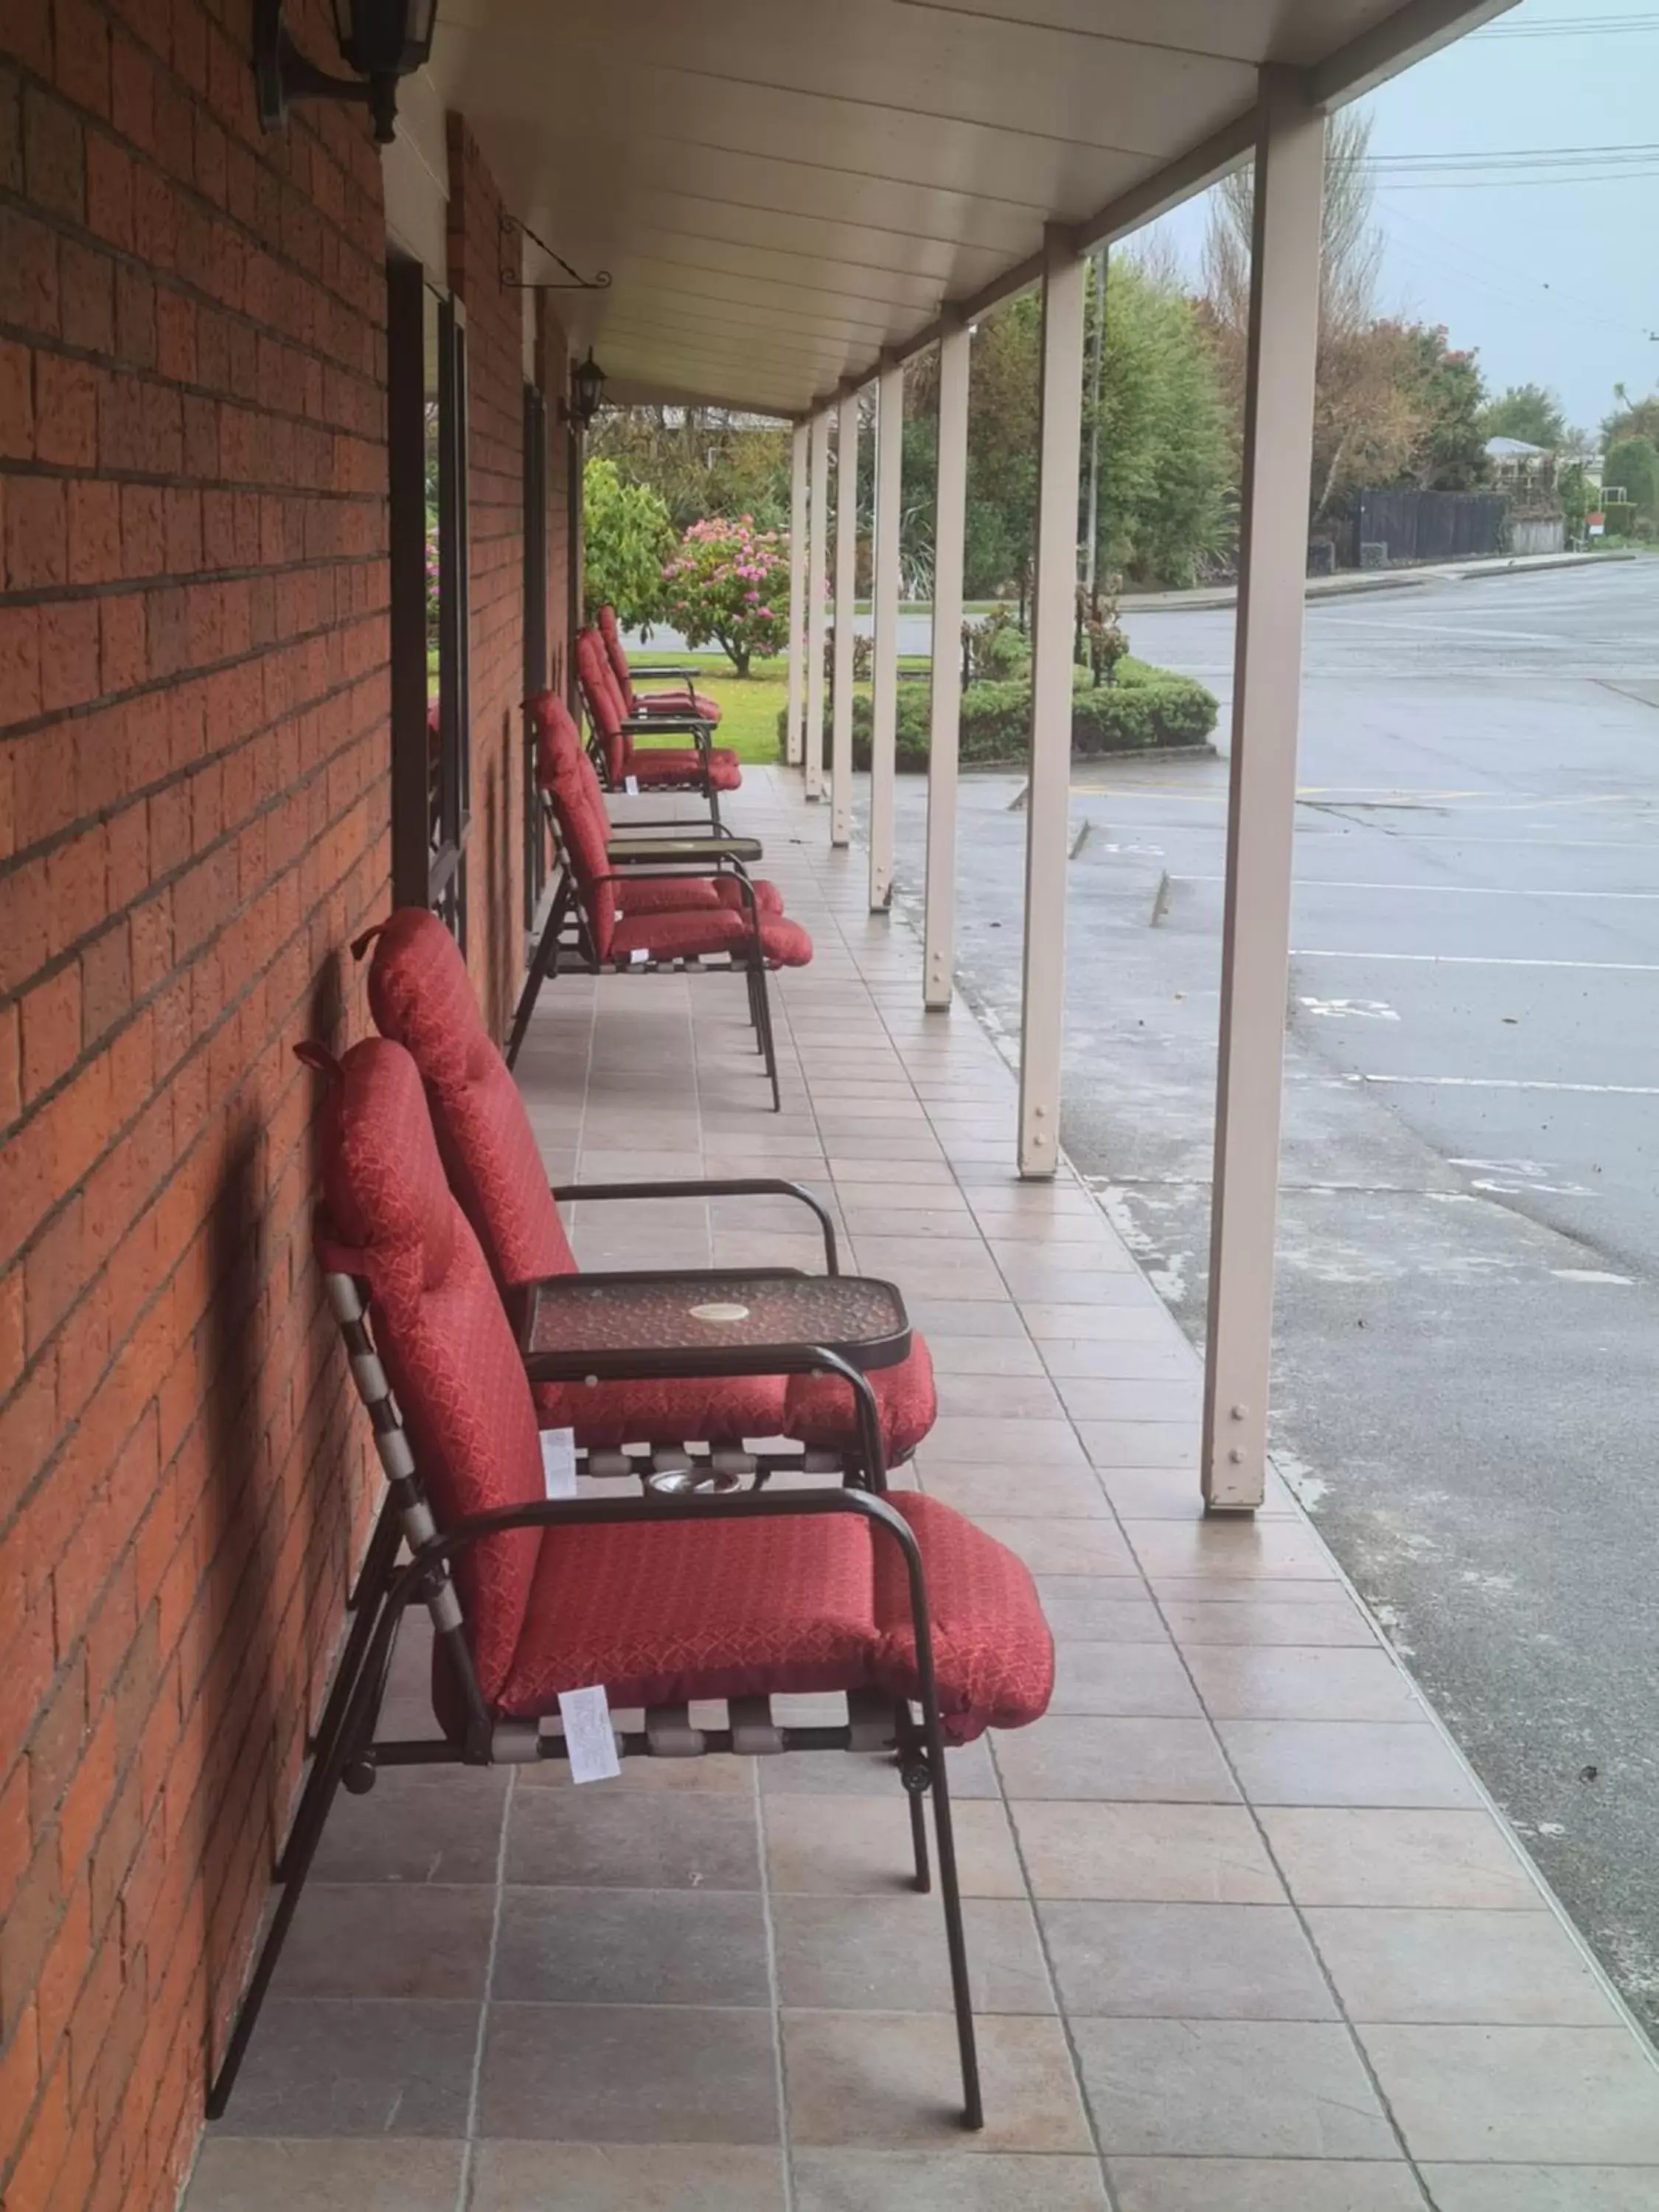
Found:
[[[219,2135],[467,2132],[478,2006],[270,1997]]]

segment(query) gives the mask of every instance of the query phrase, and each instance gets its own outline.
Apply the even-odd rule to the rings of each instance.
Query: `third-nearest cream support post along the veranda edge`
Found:
[[[956,752],[962,721],[962,546],[967,538],[964,323],[938,347],[938,502],[933,509],[933,712],[927,739],[927,896],[922,1004],[949,1006],[956,975]]]

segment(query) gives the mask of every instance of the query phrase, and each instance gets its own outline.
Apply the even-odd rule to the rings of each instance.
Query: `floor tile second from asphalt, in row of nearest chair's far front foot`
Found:
[[[1279,1905],[1285,1896],[1243,1805],[1013,1805],[1037,1898]]]

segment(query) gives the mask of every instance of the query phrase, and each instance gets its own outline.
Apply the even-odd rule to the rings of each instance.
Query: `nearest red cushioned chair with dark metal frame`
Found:
[[[560,1694],[604,1688],[611,1710],[646,1708],[641,1728],[617,1732],[628,1759],[891,1752],[920,1889],[931,1796],[964,2119],[982,2126],[945,1745],[1044,1712],[1053,1644],[1031,1575],[918,1495],[546,1498],[513,1329],[445,1181],[416,1064],[372,1037],[327,1075],[316,1256],[411,1559],[380,1559],[358,1593],[372,1632],[347,1652],[208,2110],[228,2104],[341,1781],[365,1792],[385,1767],[566,1756],[544,1728]],[[434,1624],[442,1734],[385,1741],[380,1703],[414,1601]],[[774,1721],[770,1699],[794,1692],[845,1694],[847,1721]],[[692,1701],[723,1703],[728,1725],[692,1728]]]

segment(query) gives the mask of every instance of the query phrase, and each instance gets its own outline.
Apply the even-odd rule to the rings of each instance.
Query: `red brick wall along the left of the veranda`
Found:
[[[332,53],[323,0],[290,0]],[[476,971],[518,967],[518,296],[460,142]],[[312,1079],[389,869],[361,111],[248,0],[0,0],[0,2194],[166,2205],[367,1526]]]

